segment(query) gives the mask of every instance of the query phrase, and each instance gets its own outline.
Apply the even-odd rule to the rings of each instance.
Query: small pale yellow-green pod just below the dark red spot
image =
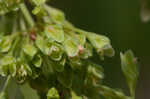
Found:
[[[27,54],[31,59],[33,59],[33,57],[35,56],[35,54],[37,53],[37,49],[34,47],[33,44],[25,44],[23,46],[23,51],[25,54]]]

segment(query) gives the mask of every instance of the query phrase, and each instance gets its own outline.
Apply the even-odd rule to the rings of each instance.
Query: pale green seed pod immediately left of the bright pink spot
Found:
[[[71,38],[68,38],[64,41],[64,48],[69,57],[74,57],[78,55],[78,44],[74,42]]]

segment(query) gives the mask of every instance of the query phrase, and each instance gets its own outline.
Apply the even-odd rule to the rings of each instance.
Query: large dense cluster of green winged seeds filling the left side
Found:
[[[1,76],[28,83],[39,95],[47,93],[47,99],[130,99],[104,86],[103,68],[94,63],[95,57],[114,56],[106,36],[76,28],[46,0],[24,0],[32,11],[24,1],[4,1],[0,0],[0,5],[6,4],[0,6],[0,14],[14,15],[10,31],[0,32]]]

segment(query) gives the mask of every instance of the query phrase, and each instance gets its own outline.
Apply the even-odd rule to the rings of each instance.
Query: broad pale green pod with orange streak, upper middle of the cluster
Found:
[[[47,38],[57,42],[64,41],[64,31],[61,25],[48,25],[45,28]]]

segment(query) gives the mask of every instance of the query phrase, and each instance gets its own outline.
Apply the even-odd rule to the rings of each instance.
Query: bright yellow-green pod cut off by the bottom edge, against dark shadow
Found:
[[[49,89],[47,93],[47,99],[60,99],[59,93],[56,88]]]

